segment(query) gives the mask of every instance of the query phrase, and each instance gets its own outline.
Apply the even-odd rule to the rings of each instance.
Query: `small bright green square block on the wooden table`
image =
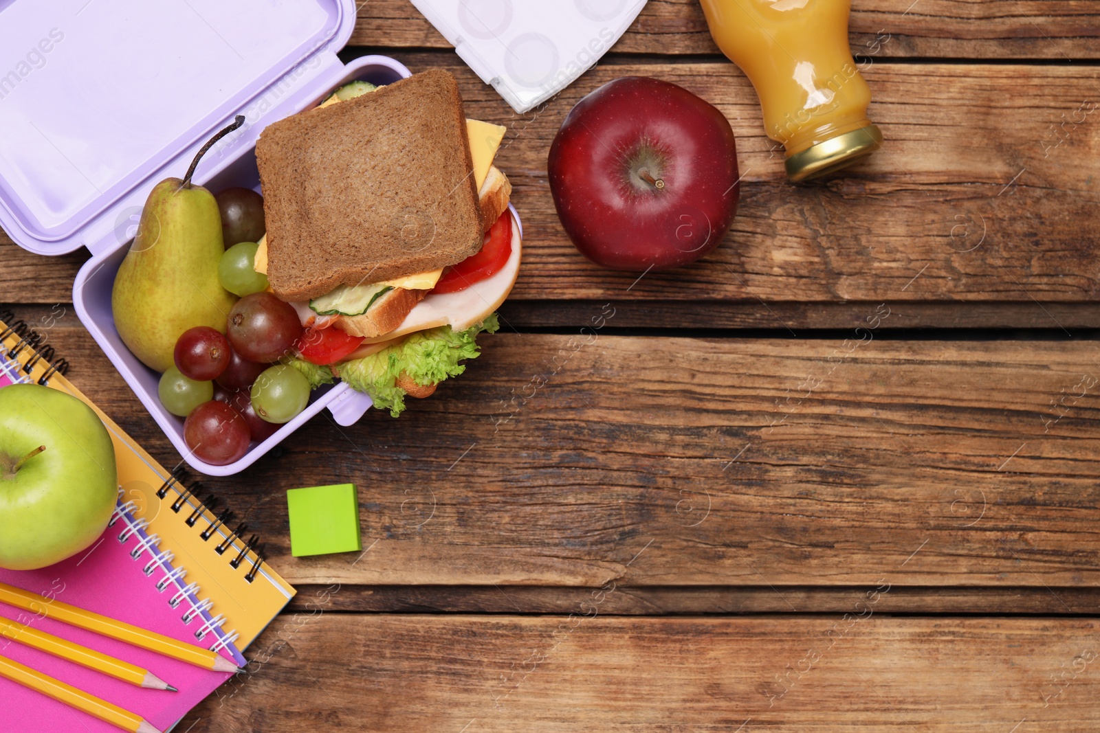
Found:
[[[353,484],[290,489],[286,504],[290,512],[290,554],[295,557],[363,548]]]

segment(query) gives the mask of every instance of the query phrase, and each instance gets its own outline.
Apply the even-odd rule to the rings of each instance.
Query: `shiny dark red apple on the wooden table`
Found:
[[[548,173],[573,244],[614,269],[695,262],[737,212],[729,122],[659,79],[623,77],[578,102],[550,146]]]

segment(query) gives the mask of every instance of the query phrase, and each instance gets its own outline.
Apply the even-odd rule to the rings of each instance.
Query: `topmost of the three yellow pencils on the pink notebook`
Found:
[[[216,652],[178,642],[155,631],[140,629],[124,621],[116,621],[106,615],[86,611],[76,606],[62,603],[58,600],[46,601],[42,596],[21,588],[0,582],[0,602],[36,613],[42,617],[67,623],[72,626],[86,629],[96,634],[102,634],[127,644],[140,646],[150,652],[179,659],[187,664],[215,671],[238,673],[241,669]]]

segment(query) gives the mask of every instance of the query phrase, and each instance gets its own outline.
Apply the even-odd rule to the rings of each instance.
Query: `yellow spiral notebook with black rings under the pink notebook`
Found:
[[[134,523],[143,549],[165,570],[164,580],[196,601],[217,645],[243,664],[240,652],[294,597],[294,588],[264,562],[255,535],[245,538],[244,524],[232,526],[230,511],[215,511],[211,497],[197,496],[197,484],[184,486],[182,473],[165,470],[74,387],[65,378],[68,363],[43,341],[10,312],[0,313],[0,388],[37,382],[96,411],[114,442],[119,512]]]

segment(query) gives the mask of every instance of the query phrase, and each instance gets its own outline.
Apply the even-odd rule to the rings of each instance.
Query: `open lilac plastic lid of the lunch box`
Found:
[[[197,181],[341,74],[354,25],[352,0],[0,0],[0,226],[43,255],[129,241],[234,115]]]

